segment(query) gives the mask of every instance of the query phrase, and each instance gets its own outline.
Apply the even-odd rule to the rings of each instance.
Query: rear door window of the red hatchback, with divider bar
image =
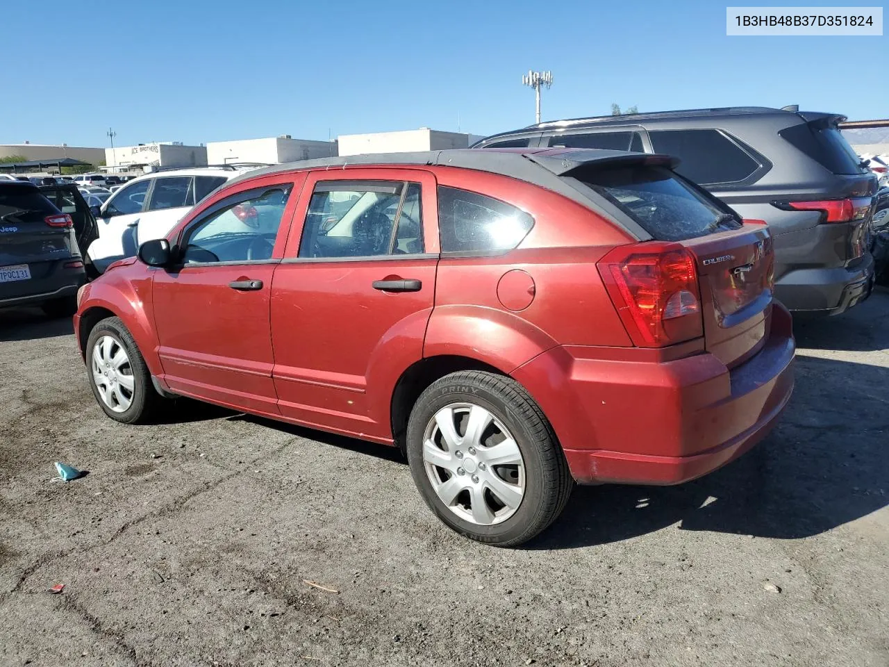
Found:
[[[423,252],[420,184],[322,181],[315,186],[300,257],[374,257]]]

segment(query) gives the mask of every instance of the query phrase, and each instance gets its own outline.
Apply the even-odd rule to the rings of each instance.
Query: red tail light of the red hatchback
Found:
[[[658,348],[703,335],[698,270],[682,245],[620,246],[597,269],[637,346]]]

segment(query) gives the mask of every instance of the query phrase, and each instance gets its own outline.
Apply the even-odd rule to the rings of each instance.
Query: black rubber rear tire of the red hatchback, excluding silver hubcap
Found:
[[[509,430],[521,452],[525,492],[518,509],[501,523],[481,525],[461,518],[438,497],[429,480],[423,461],[427,425],[451,404],[484,407]],[[461,435],[459,428],[457,432]],[[574,485],[556,434],[540,406],[518,382],[493,373],[445,375],[423,391],[408,422],[407,458],[423,500],[445,525],[472,540],[500,547],[517,546],[540,534],[565,509]]]

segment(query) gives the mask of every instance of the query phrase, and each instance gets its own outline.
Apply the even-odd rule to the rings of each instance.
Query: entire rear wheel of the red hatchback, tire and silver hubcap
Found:
[[[565,508],[573,479],[556,435],[524,387],[467,371],[433,382],[407,430],[413,480],[458,533],[516,546]]]

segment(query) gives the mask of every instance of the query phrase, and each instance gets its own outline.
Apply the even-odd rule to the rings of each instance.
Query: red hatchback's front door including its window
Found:
[[[292,189],[292,179],[252,183],[211,205],[181,232],[177,265],[154,271],[158,354],[171,390],[278,414],[268,309]]]

